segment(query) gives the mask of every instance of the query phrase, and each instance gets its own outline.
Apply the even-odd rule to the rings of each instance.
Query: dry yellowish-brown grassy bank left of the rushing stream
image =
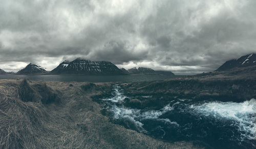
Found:
[[[0,80],[0,148],[198,148],[189,142],[162,142],[109,122],[90,96],[109,92],[110,83],[20,84]],[[57,100],[42,104],[55,94]],[[23,102],[29,97],[34,101]]]

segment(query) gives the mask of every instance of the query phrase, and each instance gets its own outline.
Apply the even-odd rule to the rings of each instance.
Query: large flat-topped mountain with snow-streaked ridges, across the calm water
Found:
[[[124,73],[108,61],[90,61],[77,58],[72,62],[60,63],[50,74],[118,75]]]

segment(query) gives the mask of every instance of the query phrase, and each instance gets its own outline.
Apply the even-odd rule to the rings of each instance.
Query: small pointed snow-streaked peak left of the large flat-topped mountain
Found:
[[[46,71],[39,65],[29,63],[25,68],[19,70],[16,74],[45,74]]]

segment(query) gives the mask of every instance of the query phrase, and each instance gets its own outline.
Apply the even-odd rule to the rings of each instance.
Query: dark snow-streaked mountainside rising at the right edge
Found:
[[[223,65],[221,65],[215,71],[225,71],[233,68],[247,67],[247,66],[254,66],[254,65],[256,65],[256,54],[248,54],[248,55],[242,56],[239,59],[226,61]]]

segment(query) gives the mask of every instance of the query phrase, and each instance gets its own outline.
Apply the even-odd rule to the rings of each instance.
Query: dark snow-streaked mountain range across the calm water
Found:
[[[5,74],[5,73],[3,73]],[[83,75],[130,75],[130,74],[152,74],[152,75],[174,75],[170,71],[155,71],[151,68],[119,69],[108,61],[90,61],[77,58],[73,61],[63,61],[56,68],[47,71],[39,65],[29,63],[16,74],[83,74]]]

